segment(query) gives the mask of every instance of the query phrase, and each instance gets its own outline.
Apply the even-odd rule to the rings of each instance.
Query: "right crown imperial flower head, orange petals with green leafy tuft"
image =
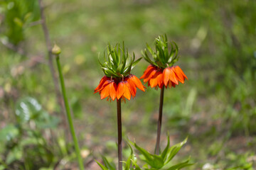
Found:
[[[149,45],[147,50],[151,53],[151,58],[147,54],[145,49],[142,52],[144,59],[150,63],[149,67],[146,68],[144,74],[140,79],[144,79],[144,83],[148,82],[148,86],[151,88],[159,87],[160,89],[165,86],[175,87],[178,85],[178,82],[182,84],[185,81],[186,75],[183,73],[180,67],[174,66],[178,61],[178,46],[175,42],[168,42],[167,37],[159,36],[156,38],[156,51],[152,50]],[[171,51],[169,52],[168,45],[171,45]]]

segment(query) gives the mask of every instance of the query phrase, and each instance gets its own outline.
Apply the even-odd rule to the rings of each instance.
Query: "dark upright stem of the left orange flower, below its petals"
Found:
[[[122,170],[122,115],[121,98],[117,100],[118,170]]]

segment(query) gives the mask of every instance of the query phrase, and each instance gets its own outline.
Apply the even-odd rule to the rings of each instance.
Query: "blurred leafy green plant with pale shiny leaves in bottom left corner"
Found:
[[[55,162],[53,146],[49,145],[43,131],[56,128],[58,118],[49,115],[35,98],[22,98],[16,103],[16,125],[9,124],[0,130],[0,142],[7,169],[39,169]]]

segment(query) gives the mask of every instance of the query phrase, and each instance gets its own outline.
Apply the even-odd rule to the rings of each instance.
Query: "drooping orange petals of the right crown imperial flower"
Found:
[[[158,86],[161,89],[163,86],[166,88],[167,86],[170,88],[171,86],[175,87],[178,85],[178,81],[183,84],[185,78],[188,79],[178,66],[161,69],[154,65],[149,65],[139,79],[144,79],[144,83],[148,82],[148,86],[151,86],[151,88],[157,88]]]

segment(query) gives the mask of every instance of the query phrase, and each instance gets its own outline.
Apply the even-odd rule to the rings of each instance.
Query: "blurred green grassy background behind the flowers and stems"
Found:
[[[44,0],[85,165],[116,157],[115,103],[93,94],[103,73],[97,52],[124,40],[142,57],[146,42],[166,33],[180,49],[185,84],[164,96],[163,134],[174,144],[188,136],[178,159],[191,169],[253,169],[256,162],[256,1]],[[0,169],[77,166],[55,100],[38,2],[0,1]],[[132,74],[142,75],[139,62]],[[123,104],[124,135],[154,150],[159,92]],[[164,135],[162,146],[166,144]],[[35,149],[36,148],[36,149]],[[129,151],[129,148],[127,149]],[[125,149],[124,149],[125,152]],[[128,156],[129,157],[129,156]],[[115,162],[117,160],[114,160]],[[175,160],[174,160],[175,161]]]

